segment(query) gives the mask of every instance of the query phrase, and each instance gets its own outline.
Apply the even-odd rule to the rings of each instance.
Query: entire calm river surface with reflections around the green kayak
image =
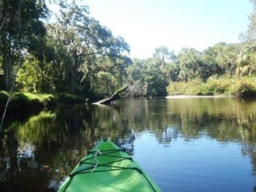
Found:
[[[256,101],[238,98],[124,99],[9,115],[0,191],[56,191],[106,137],[163,191],[255,191]]]

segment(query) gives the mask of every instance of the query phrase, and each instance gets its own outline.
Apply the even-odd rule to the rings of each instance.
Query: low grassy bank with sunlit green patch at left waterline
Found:
[[[4,107],[8,99],[8,93],[0,92],[0,105]],[[58,104],[85,103],[85,98],[71,94],[33,94],[13,93],[10,107],[45,107]]]

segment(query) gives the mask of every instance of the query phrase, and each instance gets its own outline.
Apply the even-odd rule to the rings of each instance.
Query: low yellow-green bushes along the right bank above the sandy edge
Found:
[[[254,97],[256,77],[229,78],[228,76],[210,77],[206,82],[194,79],[187,82],[171,82],[167,87],[168,95],[235,95]]]

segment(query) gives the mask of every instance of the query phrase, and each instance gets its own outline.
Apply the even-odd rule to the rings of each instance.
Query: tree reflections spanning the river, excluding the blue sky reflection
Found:
[[[19,116],[9,116],[0,136],[0,191],[55,191],[96,141],[109,137],[134,155],[134,141],[145,133],[167,147],[178,138],[239,143],[255,176],[255,101],[124,99]]]

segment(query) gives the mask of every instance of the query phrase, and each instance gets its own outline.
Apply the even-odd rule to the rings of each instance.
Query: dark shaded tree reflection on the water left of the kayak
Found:
[[[119,129],[117,114],[116,109],[77,106],[8,122],[0,139],[0,190],[55,191],[96,141],[111,137],[131,143],[132,136],[124,139],[131,134],[127,121]]]

